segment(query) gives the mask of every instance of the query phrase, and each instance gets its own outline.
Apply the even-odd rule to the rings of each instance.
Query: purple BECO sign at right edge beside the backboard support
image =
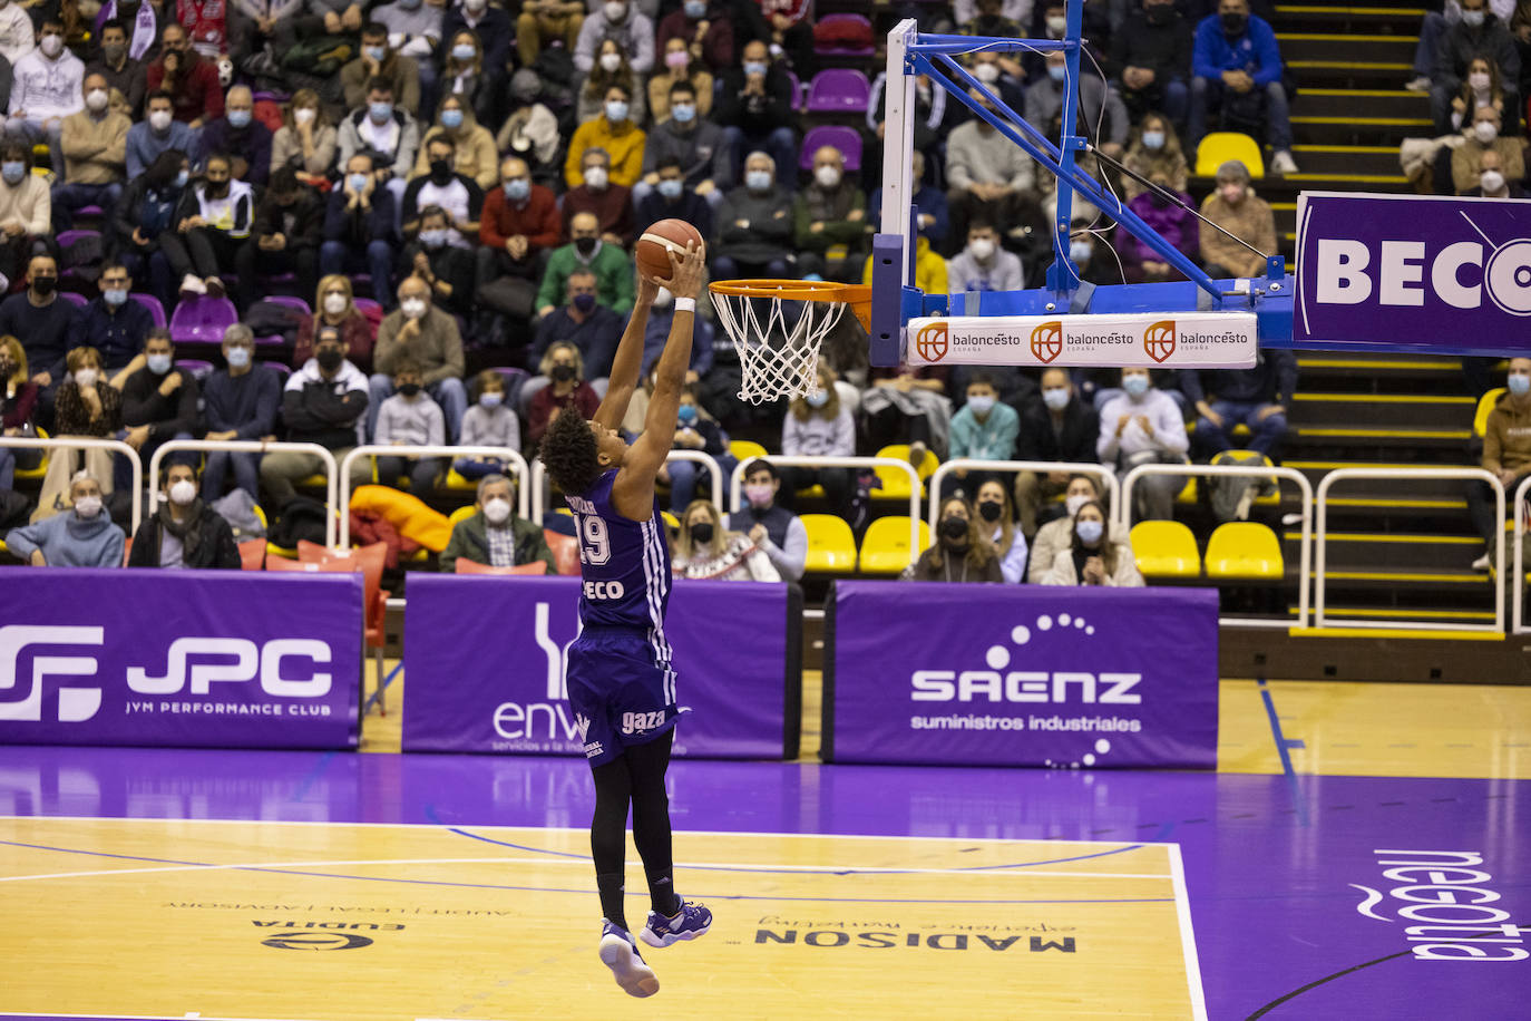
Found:
[[[1531,352],[1531,202],[1303,193],[1292,340]]]

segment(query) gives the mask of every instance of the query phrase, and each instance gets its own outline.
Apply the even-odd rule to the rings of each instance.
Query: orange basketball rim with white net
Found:
[[[718,280],[718,321],[739,352],[739,400],[764,404],[819,389],[819,344],[845,308],[871,328],[871,288],[830,280]]]

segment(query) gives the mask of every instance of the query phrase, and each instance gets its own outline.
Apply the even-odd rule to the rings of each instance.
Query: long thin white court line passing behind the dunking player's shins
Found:
[[[52,850],[52,848],[49,848]],[[70,854],[72,851],[63,851]],[[89,854],[89,851],[86,851]],[[0,883],[20,883],[37,879],[89,879],[95,876],[145,876],[150,873],[211,873],[227,869],[283,869],[283,868],[334,868],[354,865],[562,865],[565,868],[588,869],[589,862],[583,859],[547,859],[547,857],[398,857],[398,859],[354,859],[354,860],[320,860],[320,862],[233,862],[228,865],[155,865],[150,868],[101,868],[80,873],[38,873],[28,876],[0,876]],[[1043,871],[1029,868],[897,868],[891,865],[741,865],[736,862],[683,862],[680,868],[730,869],[738,873],[804,873],[822,874],[833,879],[853,879],[856,876],[1040,876],[1049,879],[1171,879],[1160,873],[1067,873]],[[847,876],[847,873],[850,873]],[[0,1016],[5,1016],[0,1013]]]

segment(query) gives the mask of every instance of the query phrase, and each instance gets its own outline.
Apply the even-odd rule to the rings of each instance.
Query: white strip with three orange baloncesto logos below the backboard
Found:
[[[1254,312],[949,315],[911,318],[908,337],[914,366],[1248,369],[1258,346]]]

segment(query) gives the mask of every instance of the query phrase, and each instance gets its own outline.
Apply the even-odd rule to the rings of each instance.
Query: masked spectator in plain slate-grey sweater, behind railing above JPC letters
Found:
[[[265,439],[274,435],[277,409],[282,407],[282,380],[271,369],[256,364],[254,357],[256,337],[248,326],[234,323],[224,331],[224,367],[202,381],[204,439]],[[224,494],[230,470],[236,487],[250,493],[250,499],[260,497],[259,453],[210,450],[202,468],[204,501],[211,504]]]

